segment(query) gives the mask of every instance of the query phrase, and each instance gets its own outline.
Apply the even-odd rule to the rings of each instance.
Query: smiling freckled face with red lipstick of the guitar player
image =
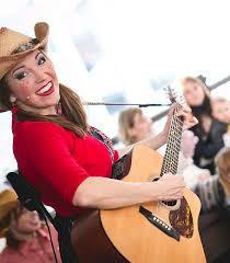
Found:
[[[39,50],[28,54],[7,75],[10,102],[24,111],[56,114],[59,84],[51,61]]]

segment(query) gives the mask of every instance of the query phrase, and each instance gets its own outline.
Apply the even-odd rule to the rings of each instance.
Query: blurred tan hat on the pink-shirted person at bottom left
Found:
[[[13,190],[4,190],[0,193],[0,238],[4,236],[4,227],[1,220],[20,204]]]

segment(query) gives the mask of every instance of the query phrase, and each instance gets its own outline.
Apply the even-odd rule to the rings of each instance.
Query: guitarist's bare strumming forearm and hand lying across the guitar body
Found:
[[[113,209],[152,201],[182,198],[181,175],[164,174],[157,182],[129,183],[114,179],[88,178],[77,188],[74,206]]]

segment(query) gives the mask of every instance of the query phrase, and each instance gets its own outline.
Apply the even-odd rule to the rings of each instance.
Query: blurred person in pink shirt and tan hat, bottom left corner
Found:
[[[56,255],[60,262],[57,233],[50,226]],[[23,208],[14,191],[0,193],[0,237],[7,247],[0,254],[1,263],[54,263],[48,231],[36,211]]]

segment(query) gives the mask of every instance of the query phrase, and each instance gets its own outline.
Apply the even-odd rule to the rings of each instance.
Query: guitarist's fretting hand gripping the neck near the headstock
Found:
[[[163,128],[163,134],[168,138],[169,129],[170,129],[170,124],[176,107],[176,103],[173,103],[172,106],[170,107],[170,111],[168,113],[168,119]],[[183,106],[177,113],[177,117],[183,117],[184,124],[183,124],[183,129],[188,129],[196,125],[198,123],[197,118],[193,116],[192,110],[188,106]]]

